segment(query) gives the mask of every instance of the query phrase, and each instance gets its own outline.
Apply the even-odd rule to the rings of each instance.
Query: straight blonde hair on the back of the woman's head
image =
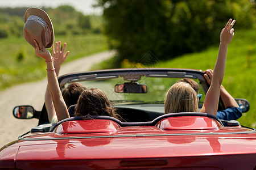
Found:
[[[189,83],[172,85],[164,101],[164,113],[198,112],[197,94]]]

